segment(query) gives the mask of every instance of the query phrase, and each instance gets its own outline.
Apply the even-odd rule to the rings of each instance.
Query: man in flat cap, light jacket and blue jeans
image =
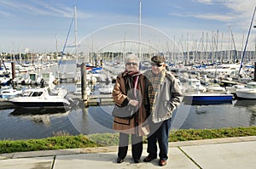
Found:
[[[166,59],[161,55],[151,58],[151,70],[146,76],[146,93],[144,100],[149,115],[150,134],[148,135],[148,156],[143,160],[149,162],[157,158],[157,141],[160,148],[159,166],[165,166],[168,159],[168,136],[171,128],[173,110],[181,103],[181,92],[177,79],[166,70]]]

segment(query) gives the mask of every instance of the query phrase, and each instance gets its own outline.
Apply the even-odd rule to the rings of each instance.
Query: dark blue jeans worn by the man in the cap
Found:
[[[160,159],[168,159],[168,138],[171,128],[172,118],[159,123],[150,122],[150,135],[148,136],[148,154],[156,158],[157,157],[157,141],[160,148],[159,157]]]

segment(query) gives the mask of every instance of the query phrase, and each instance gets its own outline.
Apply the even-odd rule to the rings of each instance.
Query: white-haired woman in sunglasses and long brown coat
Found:
[[[137,55],[130,54],[125,59],[125,71],[117,76],[113,87],[113,101],[120,107],[131,104],[137,112],[130,118],[113,117],[113,130],[119,132],[117,162],[122,163],[127,155],[131,135],[131,153],[135,163],[139,163],[143,153],[143,136],[149,133],[146,110],[142,104],[145,89],[144,76],[138,70]]]

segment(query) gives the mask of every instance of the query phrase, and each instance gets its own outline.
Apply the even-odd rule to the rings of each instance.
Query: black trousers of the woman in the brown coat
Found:
[[[136,134],[125,134],[119,132],[119,153],[121,159],[125,159],[128,150],[129,137],[131,135],[131,154],[132,158],[138,160],[143,154],[143,137]]]

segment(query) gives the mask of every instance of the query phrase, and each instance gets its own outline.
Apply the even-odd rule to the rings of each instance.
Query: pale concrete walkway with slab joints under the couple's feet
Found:
[[[146,146],[144,145],[142,162],[138,164],[132,161],[131,149],[129,149],[125,161],[117,164],[117,147],[103,147],[0,154],[0,168],[256,168],[256,136],[170,143],[169,160],[166,166],[158,166],[159,159],[148,163],[143,162],[143,158],[148,155]]]

